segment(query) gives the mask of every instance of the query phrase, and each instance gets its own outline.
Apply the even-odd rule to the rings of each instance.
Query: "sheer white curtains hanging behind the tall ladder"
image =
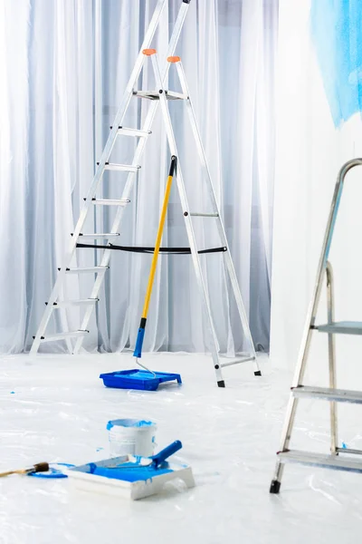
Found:
[[[32,343],[156,3],[0,0],[3,353],[26,351]],[[163,30],[155,41],[160,58],[179,5],[180,0],[169,0],[162,15]],[[276,0],[193,0],[176,50],[195,103],[253,340],[263,350],[269,349],[270,328],[277,15]],[[97,54],[101,63],[95,63]],[[99,74],[95,66],[100,65]],[[150,70],[140,83],[153,87]],[[172,84],[176,78],[171,74]],[[148,102],[135,99],[127,124],[142,123],[147,108]],[[208,201],[182,105],[172,104],[171,115],[191,206],[205,210]],[[127,163],[134,151],[135,142],[125,138],[111,160]],[[120,244],[154,245],[168,163],[158,115],[120,228]],[[119,198],[124,181],[123,174],[107,172],[99,195]],[[109,232],[112,217],[112,212],[97,212],[84,232]],[[195,219],[195,230],[200,247],[220,245],[210,223]],[[176,187],[163,245],[187,246]],[[94,258],[99,262],[100,254],[77,250],[78,266],[91,266]],[[87,350],[117,351],[134,345],[150,258],[114,252],[88,327]],[[221,254],[203,257],[203,266],[220,349],[233,353],[243,347],[243,335],[233,297],[225,288]],[[90,277],[82,276],[80,282],[71,277],[64,297],[86,298],[91,285]],[[79,318],[78,311],[59,312],[49,330],[76,330]],[[160,257],[145,351],[208,347],[191,258]],[[43,347],[65,349],[62,343]]]

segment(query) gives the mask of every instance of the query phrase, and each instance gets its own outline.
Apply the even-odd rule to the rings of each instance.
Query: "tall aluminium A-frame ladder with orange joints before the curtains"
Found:
[[[110,240],[112,238],[119,237],[119,226],[123,216],[123,211],[125,207],[127,206],[127,204],[129,203],[130,193],[134,185],[135,174],[138,172],[138,169],[140,168],[139,162],[143,154],[143,151],[145,149],[145,144],[148,139],[148,136],[151,134],[151,127],[155,119],[158,104],[160,104],[161,106],[163,121],[165,122],[166,131],[167,131],[167,141],[170,147],[171,154],[175,155],[176,157],[178,156],[177,149],[176,149],[176,140],[175,140],[174,131],[172,129],[172,123],[171,123],[171,119],[169,115],[167,101],[180,100],[180,101],[186,102],[186,108],[189,115],[189,119],[191,121],[191,127],[195,137],[197,151],[200,157],[203,171],[205,173],[207,189],[209,191],[210,199],[213,206],[213,209],[211,211],[205,211],[205,212],[204,211],[194,212],[189,209],[187,198],[186,198],[185,184],[183,181],[182,172],[178,162],[176,182],[177,182],[177,189],[178,189],[180,200],[181,200],[181,205],[184,211],[186,232],[187,232],[187,237],[190,244],[189,252],[191,252],[191,255],[193,258],[198,287],[200,288],[200,292],[202,294],[202,298],[203,298],[203,302],[205,306],[205,311],[208,316],[208,324],[209,324],[211,340],[212,340],[212,356],[213,356],[214,371],[216,374],[217,384],[219,387],[224,387],[225,384],[224,384],[224,379],[222,375],[222,369],[225,366],[252,361],[255,365],[254,374],[261,375],[261,371],[257,362],[254,346],[252,343],[252,335],[250,333],[248,319],[247,319],[246,312],[243,306],[243,299],[241,296],[237,277],[233,267],[233,260],[230,255],[230,250],[227,244],[227,239],[224,232],[224,226],[223,226],[223,223],[220,217],[220,212],[217,206],[211,174],[210,174],[210,170],[207,166],[207,162],[205,158],[204,147],[201,141],[200,132],[198,130],[197,123],[195,121],[195,111],[193,108],[193,104],[190,100],[185,73],[184,73],[182,63],[180,62],[179,57],[174,56],[174,53],[176,50],[176,44],[181,34],[181,30],[186,18],[186,12],[188,10],[190,2],[191,0],[183,0],[182,2],[179,14],[176,19],[175,28],[171,36],[170,42],[168,44],[167,63],[165,65],[163,72],[161,72],[159,64],[157,62],[157,52],[156,50],[149,48],[152,42],[152,39],[154,37],[154,34],[157,30],[157,26],[159,24],[160,15],[162,14],[162,11],[167,3],[167,0],[158,0],[155,13],[152,17],[151,23],[148,28],[148,32],[145,36],[141,50],[138,54],[137,62],[130,76],[129,83],[128,83],[125,95],[123,97],[123,101],[119,107],[119,112],[117,113],[116,119],[114,120],[112,124],[112,128],[110,130],[110,136],[106,143],[104,151],[102,152],[98,168],[96,170],[94,179],[90,186],[89,193],[87,195],[87,198],[84,199],[85,203],[84,203],[83,209],[81,210],[80,219],[78,220],[76,228],[74,229],[74,233],[71,236],[71,244],[70,244],[69,251],[64,258],[64,264],[59,271],[57,280],[52,289],[52,295],[50,296],[47,306],[45,308],[43,318],[39,325],[38,331],[36,335],[34,336],[31,354],[37,353],[39,346],[43,342],[56,341],[60,339],[65,339],[69,341],[69,339],[71,338],[76,339],[75,345],[72,348],[72,353],[77,354],[79,352],[84,336],[88,335],[89,333],[89,331],[87,330],[87,326],[89,325],[91,312],[94,306],[96,305],[96,303],[98,302],[98,295],[100,292],[100,286],[103,281],[104,274],[106,270],[109,268],[111,250],[122,248],[120,246],[115,246],[114,244],[111,244],[110,241],[108,241],[107,246],[99,246],[99,245],[93,246],[88,244],[84,245],[80,243],[79,238],[81,237],[81,242],[82,242],[84,238],[92,238],[94,240],[99,238]],[[157,82],[157,91],[151,91],[151,92],[138,91],[135,89],[135,86],[136,86],[136,83],[138,82],[138,77],[142,69],[144,68],[145,62],[148,60],[148,58],[152,59],[152,64],[153,64],[156,82]],[[167,89],[164,88],[165,82],[167,81],[169,67],[172,64],[176,64],[178,77],[182,87],[182,93],[168,91]],[[145,123],[143,127],[141,128],[141,130],[134,129],[134,128],[124,128],[122,126],[122,121],[126,115],[126,112],[129,107],[129,102],[132,99],[132,97],[145,98],[151,101],[151,105],[148,109],[148,114],[146,116]],[[113,149],[113,146],[118,136],[134,136],[139,138],[138,146],[137,146],[134,159],[132,160],[131,165],[112,164],[109,162],[110,153]],[[100,181],[102,180],[102,176],[105,170],[119,170],[119,171],[129,172],[128,180],[123,190],[121,199],[108,199],[108,200],[96,199],[95,197],[96,191],[99,187]],[[85,235],[84,233],[82,233],[82,228],[84,226],[85,220],[87,219],[87,215],[90,212],[90,210],[93,209],[94,205],[96,206],[98,205],[112,206],[113,205],[118,207],[116,217],[114,219],[113,226],[109,234],[100,233],[100,234],[86,234]],[[198,250],[196,246],[196,241],[195,241],[195,231],[194,231],[194,227],[192,223],[193,217],[201,217],[201,218],[216,220],[218,233],[221,239],[221,245],[222,245],[221,248],[210,248],[210,249]],[[71,268],[70,267],[71,260],[73,258],[76,248],[84,248],[84,247],[104,249],[103,257],[101,258],[101,261],[100,261],[100,266],[87,267],[87,268]],[[248,343],[248,349],[249,349],[248,353],[243,354],[240,357],[236,357],[234,360],[229,360],[229,361],[226,360],[226,362],[223,362],[223,357],[219,355],[219,346],[218,346],[218,342],[217,342],[217,338],[216,338],[216,334],[214,330],[214,321],[211,315],[209,297],[208,297],[207,288],[205,285],[205,279],[203,277],[203,270],[202,270],[200,258],[199,258],[200,253],[207,254],[207,253],[214,253],[216,251],[220,251],[224,256],[226,269],[228,271],[231,285],[233,287],[233,295],[235,297],[236,306],[237,306],[238,313],[241,318],[241,322],[243,326],[243,334],[245,335],[245,338]],[[78,301],[59,300],[59,296],[62,290],[62,284],[64,282],[66,275],[67,274],[83,274],[83,273],[93,273],[96,275],[96,280],[91,290],[90,298],[85,300],[78,300]],[[64,332],[61,334],[46,335],[46,327],[49,323],[50,317],[52,316],[52,311],[58,308],[68,307],[68,306],[86,306],[84,316],[81,321],[80,329],[73,332]]]

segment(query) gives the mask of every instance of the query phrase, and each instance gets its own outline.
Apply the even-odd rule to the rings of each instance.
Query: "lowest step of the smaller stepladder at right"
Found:
[[[289,452],[279,452],[278,461],[282,463],[296,462],[335,471],[362,472],[362,460],[346,459],[339,455],[290,450]]]

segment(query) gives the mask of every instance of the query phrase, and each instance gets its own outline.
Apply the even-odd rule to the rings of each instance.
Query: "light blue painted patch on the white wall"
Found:
[[[362,0],[312,0],[310,32],[339,128],[362,112]]]

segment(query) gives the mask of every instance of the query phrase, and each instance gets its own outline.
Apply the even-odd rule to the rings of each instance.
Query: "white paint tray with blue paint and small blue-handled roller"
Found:
[[[176,441],[152,457],[124,455],[94,461],[67,471],[70,481],[82,491],[143,499],[162,491],[167,481],[180,479],[187,488],[195,486],[191,467],[167,461],[182,447]]]

